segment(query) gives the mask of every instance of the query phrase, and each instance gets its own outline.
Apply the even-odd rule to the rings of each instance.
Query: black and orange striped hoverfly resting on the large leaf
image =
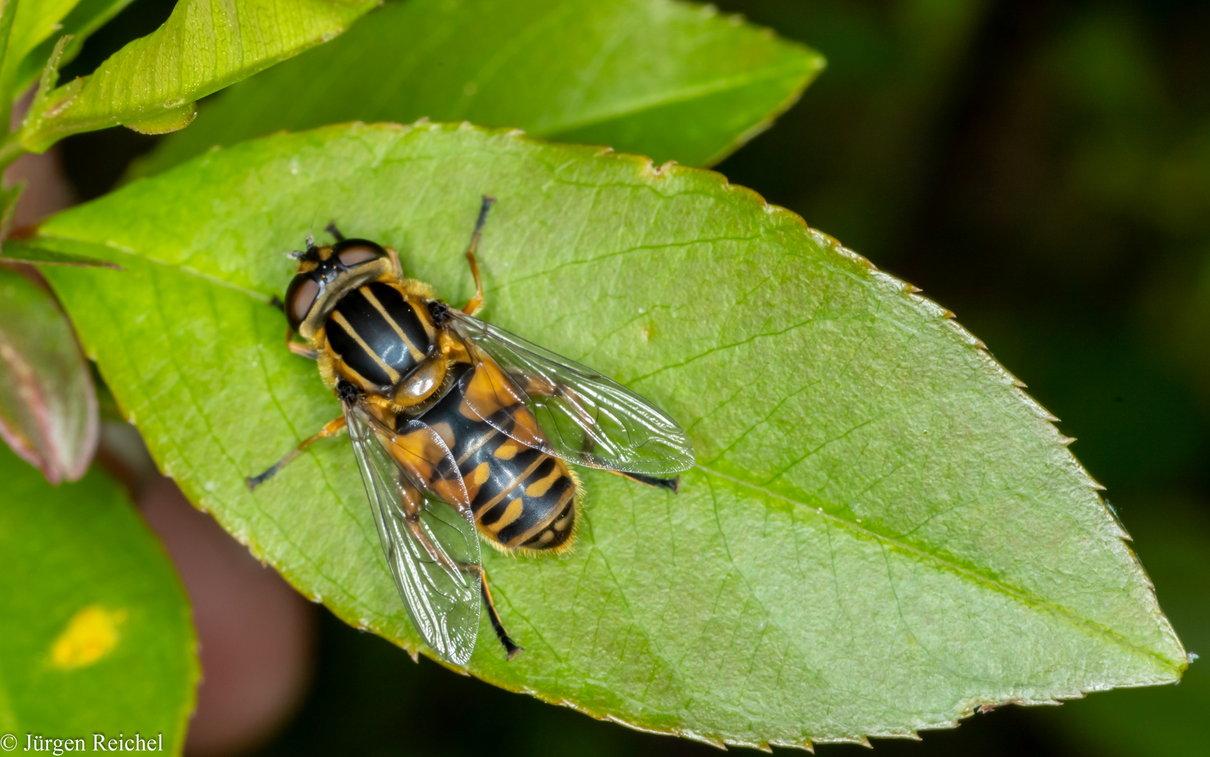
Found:
[[[474,651],[480,601],[512,659],[480,566],[479,542],[525,554],[575,541],[583,487],[566,463],[676,491],[656,478],[693,464],[685,432],[609,377],[474,318],[483,306],[476,249],[483,198],[466,249],[476,295],[462,308],[404,278],[396,250],[368,239],[292,253],[286,291],[294,354],[318,363],[342,415],[248,487],[315,441],[347,429],[382,550],[416,630],[443,659]],[[299,343],[294,334],[306,340]]]

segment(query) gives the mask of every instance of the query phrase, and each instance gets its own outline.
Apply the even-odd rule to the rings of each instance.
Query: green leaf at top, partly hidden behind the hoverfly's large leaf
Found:
[[[224,92],[139,171],[338,121],[468,120],[657,162],[715,163],[789,108],[822,56],[668,0],[410,0]]]

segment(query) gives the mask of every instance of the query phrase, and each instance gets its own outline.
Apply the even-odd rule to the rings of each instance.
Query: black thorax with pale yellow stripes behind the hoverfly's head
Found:
[[[426,320],[398,289],[371,282],[340,299],[324,333],[335,356],[364,380],[359,383],[386,388],[398,385],[428,356],[432,335],[425,327]]]

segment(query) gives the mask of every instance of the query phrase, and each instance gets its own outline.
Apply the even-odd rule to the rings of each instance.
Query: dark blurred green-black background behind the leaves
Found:
[[[984,339],[1079,439],[1074,452],[1108,487],[1187,648],[1210,647],[1210,4],[719,5],[816,47],[829,67],[718,171],[922,287]],[[137,0],[65,77],[171,7]],[[60,155],[90,198],[152,141],[106,129],[65,140]],[[415,665],[327,613],[319,629],[311,693],[255,753],[718,753]],[[875,747],[1205,755],[1204,668],[1179,687],[1008,706]]]

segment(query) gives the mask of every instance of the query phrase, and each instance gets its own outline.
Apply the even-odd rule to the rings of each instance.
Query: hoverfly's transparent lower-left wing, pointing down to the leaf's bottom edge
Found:
[[[392,456],[391,432],[345,405],[348,438],[374,510],[382,551],[413,625],[428,646],[465,665],[479,631],[479,539],[474,525],[442,502]],[[408,513],[417,516],[409,520]]]

